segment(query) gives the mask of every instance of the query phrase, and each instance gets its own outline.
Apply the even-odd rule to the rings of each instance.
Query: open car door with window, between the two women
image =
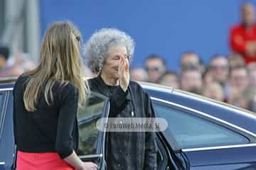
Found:
[[[85,105],[78,111],[78,156],[82,161],[95,162],[100,170],[106,169],[105,132],[97,128],[97,121],[108,117],[110,105],[107,99],[91,91]]]

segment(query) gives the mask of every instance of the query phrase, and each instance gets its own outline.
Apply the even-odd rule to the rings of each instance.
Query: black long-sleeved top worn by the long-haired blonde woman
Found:
[[[71,83],[53,85],[53,103],[48,106],[44,92],[36,111],[26,111],[23,94],[27,77],[18,77],[14,86],[14,138],[23,152],[58,152],[63,159],[78,147],[78,96]]]

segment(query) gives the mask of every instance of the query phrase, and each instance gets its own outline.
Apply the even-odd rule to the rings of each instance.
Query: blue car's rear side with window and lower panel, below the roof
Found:
[[[256,169],[255,136],[181,105],[152,98],[156,115],[165,118],[191,169]]]

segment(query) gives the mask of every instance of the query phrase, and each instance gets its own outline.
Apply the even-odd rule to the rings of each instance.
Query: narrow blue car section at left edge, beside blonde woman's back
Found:
[[[12,169],[15,148],[12,89],[0,89],[0,169]]]

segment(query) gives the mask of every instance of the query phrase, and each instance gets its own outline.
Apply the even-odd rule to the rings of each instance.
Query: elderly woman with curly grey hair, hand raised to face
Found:
[[[87,65],[98,76],[90,90],[110,98],[112,118],[154,118],[151,100],[142,86],[129,80],[134,40],[126,33],[103,28],[85,45]],[[154,132],[107,132],[107,169],[156,169]]]

